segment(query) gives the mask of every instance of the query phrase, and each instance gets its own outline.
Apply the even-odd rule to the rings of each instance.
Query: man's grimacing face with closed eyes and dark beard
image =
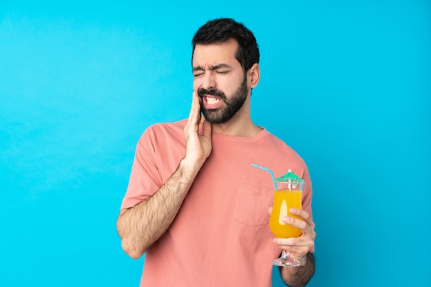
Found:
[[[225,123],[242,108],[249,95],[247,79],[235,59],[236,41],[196,45],[193,54],[193,90],[209,123]]]

